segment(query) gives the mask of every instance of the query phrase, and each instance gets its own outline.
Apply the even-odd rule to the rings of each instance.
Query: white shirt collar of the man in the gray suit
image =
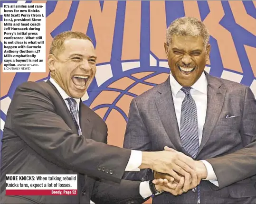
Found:
[[[170,71],[170,85],[171,85],[171,92],[176,96],[182,86],[174,79],[172,76],[172,73]],[[199,92],[203,94],[207,94],[207,78],[205,76],[205,73],[202,72],[201,76],[199,79],[194,83],[191,88],[198,90]]]

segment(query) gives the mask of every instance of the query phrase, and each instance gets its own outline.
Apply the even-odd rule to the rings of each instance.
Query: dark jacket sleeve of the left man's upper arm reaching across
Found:
[[[88,176],[121,181],[131,150],[78,137],[57,115],[47,90],[40,84],[20,85],[9,115],[11,130],[44,159]],[[101,167],[113,169],[113,173],[98,170]]]

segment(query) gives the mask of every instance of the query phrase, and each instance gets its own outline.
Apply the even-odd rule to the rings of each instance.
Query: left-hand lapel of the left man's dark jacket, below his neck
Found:
[[[58,103],[59,105],[58,106],[61,106],[61,115],[63,115],[63,118],[65,118],[65,121],[66,121],[66,124],[70,127],[70,129],[76,133],[77,130],[76,130],[76,126],[72,120],[72,116],[70,114],[70,111],[68,110],[67,106],[66,106],[66,103],[65,101],[63,100],[63,98],[61,97],[61,95],[59,94],[58,90],[56,89],[56,87],[49,81],[47,80],[47,84],[50,85],[50,87],[56,92],[58,98],[60,99]],[[58,107],[56,107],[56,109],[59,109]]]

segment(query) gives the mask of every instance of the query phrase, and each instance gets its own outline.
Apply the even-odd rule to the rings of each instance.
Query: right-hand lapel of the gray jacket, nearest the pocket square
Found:
[[[208,80],[207,112],[198,154],[209,140],[210,134],[218,121],[226,94],[226,88],[222,86],[218,78],[212,77],[207,73],[206,76]]]

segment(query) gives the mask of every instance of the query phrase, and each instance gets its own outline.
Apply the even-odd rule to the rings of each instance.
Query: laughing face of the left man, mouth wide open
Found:
[[[86,39],[65,40],[57,56],[49,55],[51,76],[71,98],[82,98],[96,72],[93,44]]]

